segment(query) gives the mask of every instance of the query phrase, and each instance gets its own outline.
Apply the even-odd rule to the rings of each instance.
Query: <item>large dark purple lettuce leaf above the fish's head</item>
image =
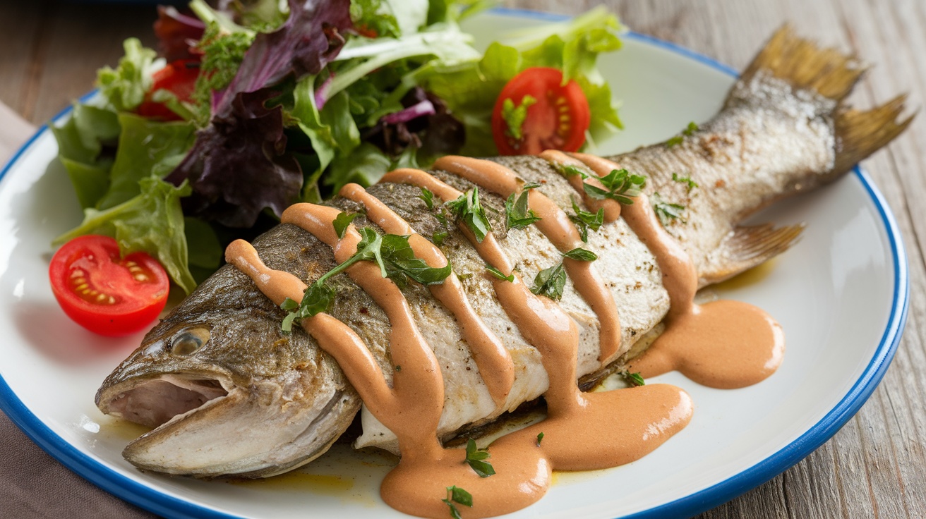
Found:
[[[352,25],[349,0],[289,5],[290,18],[277,31],[257,34],[228,88],[213,95],[209,126],[197,132],[193,149],[167,178],[176,185],[190,180],[187,215],[247,228],[265,208],[280,216],[297,200],[303,173],[286,151],[282,107],[267,107],[280,95],[272,87],[319,73]]]

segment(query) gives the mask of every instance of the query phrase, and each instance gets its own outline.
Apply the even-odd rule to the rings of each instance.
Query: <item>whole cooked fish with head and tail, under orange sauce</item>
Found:
[[[699,129],[691,127],[680,139],[611,157],[644,175],[644,192],[658,193],[653,197],[657,204],[674,211],[663,224],[693,259],[701,286],[782,253],[800,233],[800,227],[741,227],[738,222],[783,197],[839,178],[907,127],[909,119],[897,120],[903,97],[866,112],[843,105],[861,72],[855,59],[820,50],[785,28],[746,68],[717,117]],[[581,201],[569,179],[542,157],[491,160],[527,182],[542,183],[544,195],[568,213]],[[473,188],[446,171],[432,175],[461,192]],[[420,235],[444,230],[418,188],[381,183],[367,191]],[[481,195],[492,232],[522,278],[533,279],[560,261],[559,251],[534,226],[506,229],[502,197]],[[341,197],[328,204],[350,213],[364,209]],[[357,229],[375,228],[363,216],[353,223]],[[289,224],[271,229],[254,246],[267,266],[308,285],[336,266],[330,246]],[[495,402],[454,315],[427,287],[409,283],[404,295],[444,376],[438,433],[446,439],[538,398],[548,378],[540,354],[498,303],[485,263],[469,241],[449,229],[440,248],[475,313],[504,343],[515,370],[507,397]],[[603,363],[602,323],[566,281],[559,305],[579,327],[578,376],[588,386],[625,365],[629,352],[640,350],[632,347],[667,314],[669,297],[653,254],[623,220],[590,231],[586,248],[598,256],[594,268],[607,282],[620,321],[619,351]],[[386,315],[350,278],[338,276],[332,282],[338,297],[328,313],[366,342],[390,377],[394,368]],[[332,357],[304,330],[282,331],[285,315],[234,266],[222,267],[174,308],[96,394],[104,413],[156,427],[126,447],[126,459],[169,474],[259,477],[285,472],[326,451],[361,402]],[[394,435],[372,415],[364,413],[362,424],[357,447],[395,450]]]

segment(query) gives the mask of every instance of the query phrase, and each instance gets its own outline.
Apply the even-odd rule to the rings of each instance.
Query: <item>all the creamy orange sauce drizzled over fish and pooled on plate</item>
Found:
[[[607,175],[618,166],[585,154],[544,153],[557,164],[569,164]],[[524,182],[507,167],[459,156],[448,156],[434,165],[469,179],[482,189],[502,196],[522,191]],[[577,181],[578,179],[578,181]],[[411,184],[427,188],[444,202],[462,192],[417,169],[398,169],[382,182]],[[594,176],[569,179],[577,192],[581,183],[597,182]],[[345,186],[340,194],[364,204],[368,217],[386,232],[409,236],[415,254],[430,266],[445,266],[440,249],[419,236],[410,225],[360,186]],[[542,219],[538,229],[560,252],[581,247],[579,232],[569,217],[541,192],[528,194],[532,210]],[[718,301],[694,304],[697,274],[682,247],[662,229],[650,204],[641,194],[634,204],[587,200],[593,210],[605,208],[606,221],[623,216],[657,259],[671,303],[667,329],[650,349],[632,363],[644,377],[678,369],[687,377],[712,387],[742,387],[768,377],[781,362],[781,328],[754,306]],[[295,204],[282,215],[283,223],[294,224],[332,247],[334,258],[343,263],[357,252],[360,234],[353,225],[339,237],[332,225],[338,209]],[[591,470],[630,463],[682,430],[691,420],[693,404],[688,394],[667,384],[646,385],[583,393],[576,385],[579,331],[559,305],[537,296],[514,270],[511,259],[488,233],[482,241],[464,225],[459,229],[487,265],[507,279],[492,278],[495,295],[521,335],[541,353],[549,387],[544,392],[547,417],[544,421],[507,434],[489,446],[495,474],[478,476],[467,463],[463,449],[445,449],[437,438],[443,412],[444,380],[432,348],[419,332],[402,291],[378,266],[358,262],[346,273],[379,304],[392,327],[390,335],[393,365],[401,365],[387,382],[382,369],[363,340],[331,315],[319,313],[302,319],[319,346],[332,354],[354,385],[369,412],[393,431],[399,443],[398,465],[382,481],[382,499],[405,513],[445,517],[446,488],[465,488],[473,506],[457,505],[464,517],[488,517],[510,513],[540,500],[553,480],[553,470]],[[299,278],[266,266],[246,241],[234,241],[226,259],[237,266],[276,304],[286,298],[299,301],[306,285]],[[569,263],[567,263],[569,262]],[[594,269],[594,262],[564,260],[564,267],[576,290],[588,303],[601,325],[599,361],[607,364],[619,352],[620,327],[617,305],[610,290]],[[447,281],[449,280],[449,282]],[[482,324],[450,276],[442,285],[430,287],[435,298],[457,317],[461,334],[496,405],[505,401],[513,372],[510,356],[498,338]],[[748,350],[747,352],[745,350]],[[653,353],[655,352],[655,353]],[[735,352],[735,354],[731,354]],[[706,359],[702,364],[697,360]],[[742,360],[744,359],[745,360]],[[711,367],[716,363],[720,367]],[[543,439],[538,440],[540,433]]]

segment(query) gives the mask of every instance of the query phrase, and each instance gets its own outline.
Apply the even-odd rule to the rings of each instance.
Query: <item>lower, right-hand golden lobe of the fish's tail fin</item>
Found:
[[[906,101],[907,94],[902,94],[870,110],[845,109],[837,112],[836,159],[832,173],[839,175],[848,171],[907,130],[916,114],[898,120]]]

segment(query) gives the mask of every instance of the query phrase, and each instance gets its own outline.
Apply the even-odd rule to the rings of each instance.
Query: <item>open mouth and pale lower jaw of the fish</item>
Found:
[[[353,389],[307,391],[290,380],[252,381],[163,374],[101,388],[105,414],[155,427],[122,456],[136,467],[170,475],[267,477],[327,451],[359,409]]]

